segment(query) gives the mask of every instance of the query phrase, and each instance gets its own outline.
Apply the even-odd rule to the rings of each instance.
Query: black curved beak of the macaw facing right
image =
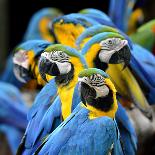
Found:
[[[128,47],[128,45],[126,45],[111,56],[109,63],[110,64],[119,64],[119,63],[124,62],[124,67],[123,67],[123,69],[124,69],[129,65],[130,58],[131,58],[130,48]]]

